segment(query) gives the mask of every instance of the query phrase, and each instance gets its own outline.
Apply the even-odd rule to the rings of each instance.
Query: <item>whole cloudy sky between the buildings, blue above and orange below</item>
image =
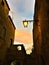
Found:
[[[27,28],[23,26],[23,20],[33,20],[35,0],[7,0],[15,30],[15,43],[23,43],[25,46],[33,45],[33,22]]]

